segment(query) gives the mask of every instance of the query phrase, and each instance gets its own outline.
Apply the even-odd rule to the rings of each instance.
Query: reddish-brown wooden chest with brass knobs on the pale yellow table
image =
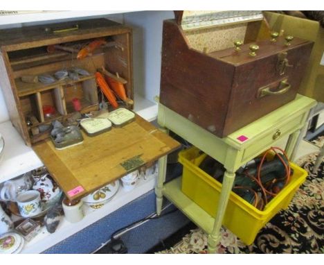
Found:
[[[312,42],[258,11],[179,11],[163,22],[160,102],[225,137],[295,99]]]

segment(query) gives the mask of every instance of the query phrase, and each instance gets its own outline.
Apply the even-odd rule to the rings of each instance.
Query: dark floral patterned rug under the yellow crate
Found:
[[[324,137],[316,140],[321,146]],[[246,246],[230,230],[222,227],[217,253],[324,253],[324,160],[312,173],[318,153],[301,157],[296,164],[308,171],[287,210],[281,210],[260,230],[252,245]],[[190,230],[172,248],[159,253],[207,253],[208,235]]]

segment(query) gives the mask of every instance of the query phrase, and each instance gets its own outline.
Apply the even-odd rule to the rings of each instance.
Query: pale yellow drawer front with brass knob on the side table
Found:
[[[288,117],[287,120],[273,126],[273,129],[269,130],[267,135],[260,135],[260,137],[255,139],[255,144],[244,150],[242,163],[253,159],[255,154],[262,153],[262,151],[269,148],[269,146],[276,146],[276,141],[291,134],[291,132],[294,132],[296,129],[301,128],[305,122],[306,115],[307,113],[304,112],[299,114],[297,117],[296,115]]]

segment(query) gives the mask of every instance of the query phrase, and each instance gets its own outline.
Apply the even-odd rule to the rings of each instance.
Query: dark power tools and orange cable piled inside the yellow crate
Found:
[[[206,156],[199,167],[222,182],[224,166],[213,158]],[[237,170],[233,191],[254,207],[262,210],[287,185],[291,174],[292,170],[285,151],[278,147],[271,147],[262,157],[255,157],[254,160]]]

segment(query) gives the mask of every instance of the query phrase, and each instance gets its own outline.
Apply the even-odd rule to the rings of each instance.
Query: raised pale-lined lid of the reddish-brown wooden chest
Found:
[[[183,31],[210,26],[219,26],[241,22],[253,22],[263,19],[262,11],[174,11],[177,24],[181,24]]]

